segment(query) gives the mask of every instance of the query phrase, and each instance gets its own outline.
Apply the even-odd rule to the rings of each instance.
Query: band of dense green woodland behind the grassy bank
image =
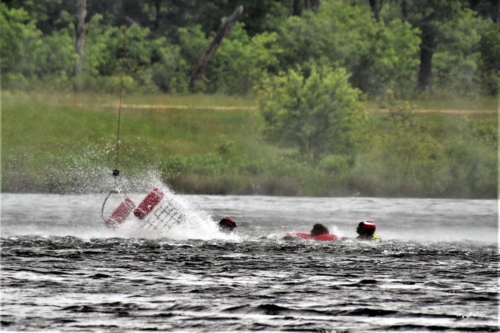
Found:
[[[86,0],[83,72],[75,76],[81,1],[2,1],[3,89],[116,90],[124,57],[126,90],[187,92],[200,55],[237,4],[241,23],[198,91],[246,94],[267,73],[312,63],[345,68],[369,97],[387,89],[414,96],[417,81],[427,79],[441,95],[495,94],[500,84],[500,32],[488,1],[380,1],[375,21],[370,1],[323,0],[297,16],[293,0]]]

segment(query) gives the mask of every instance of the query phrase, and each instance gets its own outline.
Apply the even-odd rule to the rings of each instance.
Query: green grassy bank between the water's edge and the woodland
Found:
[[[154,174],[183,193],[492,198],[495,103],[415,106],[479,111],[466,114],[370,113],[362,133],[369,139],[353,163],[328,156],[311,165],[264,142],[252,98],[125,95],[118,166],[123,176]],[[117,105],[114,95],[3,92],[2,191],[107,190],[116,158]]]

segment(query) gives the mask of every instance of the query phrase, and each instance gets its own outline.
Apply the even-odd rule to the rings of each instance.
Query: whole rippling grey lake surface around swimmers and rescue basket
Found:
[[[174,195],[158,231],[105,196],[1,194],[2,331],[499,329],[496,200]],[[318,222],[343,240],[283,237]]]

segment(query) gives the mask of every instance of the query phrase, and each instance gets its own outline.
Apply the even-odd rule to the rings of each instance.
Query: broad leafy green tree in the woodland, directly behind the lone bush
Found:
[[[387,89],[401,92],[416,79],[418,30],[401,19],[373,21],[369,6],[348,1],[323,1],[317,13],[289,17],[278,42],[282,69],[313,61],[345,67],[349,81],[363,92],[377,95]]]

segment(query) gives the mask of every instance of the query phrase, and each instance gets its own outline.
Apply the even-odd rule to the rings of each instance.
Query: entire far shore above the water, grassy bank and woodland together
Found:
[[[2,1],[1,189],[101,190],[122,89],[122,169],[178,192],[497,197],[499,20],[497,0]]]

